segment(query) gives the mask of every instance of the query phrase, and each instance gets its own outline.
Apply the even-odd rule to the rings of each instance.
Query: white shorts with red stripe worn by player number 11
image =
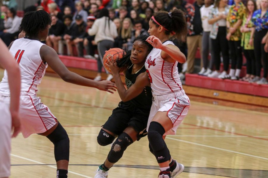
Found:
[[[10,104],[10,96],[1,96],[5,103]],[[24,138],[31,134],[41,134],[57,123],[57,118],[49,108],[36,96],[20,96],[21,133]]]

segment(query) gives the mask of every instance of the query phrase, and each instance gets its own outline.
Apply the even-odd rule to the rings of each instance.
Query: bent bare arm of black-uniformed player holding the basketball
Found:
[[[150,86],[147,72],[144,72],[139,74],[138,77],[136,78],[135,83],[131,85],[129,89],[126,90],[119,74],[120,68],[116,66],[116,62],[114,62],[113,59],[111,62],[108,60],[107,66],[111,69],[111,72],[113,74],[117,86],[118,94],[121,100],[124,102],[135,98],[136,96],[141,94],[141,92],[144,90],[144,87]]]

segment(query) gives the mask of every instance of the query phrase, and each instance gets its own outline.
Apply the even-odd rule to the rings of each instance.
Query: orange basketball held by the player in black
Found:
[[[111,48],[110,50],[106,51],[106,53],[103,56],[103,66],[105,67],[105,69],[111,73],[110,68],[107,66],[107,61],[111,61],[112,60],[112,55],[113,55],[113,60],[116,61],[117,59],[121,59],[124,57],[124,55],[126,54],[126,52],[124,50],[122,50],[121,48]],[[120,69],[120,73],[123,71],[124,69]]]

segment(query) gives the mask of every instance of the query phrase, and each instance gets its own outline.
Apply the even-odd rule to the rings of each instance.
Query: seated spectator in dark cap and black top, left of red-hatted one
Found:
[[[67,47],[69,49],[70,55],[73,56],[73,45],[76,47],[78,56],[83,57],[83,41],[86,36],[86,23],[83,20],[82,15],[75,16],[75,24],[71,31],[71,36],[66,39]]]

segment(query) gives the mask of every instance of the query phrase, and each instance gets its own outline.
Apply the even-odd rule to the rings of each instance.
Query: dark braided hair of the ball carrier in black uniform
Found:
[[[142,42],[144,45],[147,46],[147,50],[148,50],[148,53],[152,50],[152,45],[149,44],[146,39],[148,38],[149,36],[148,35],[140,35],[138,36],[136,39],[134,39],[134,42],[135,41],[140,41]],[[124,55],[124,57],[122,59],[117,59],[116,60],[116,63],[117,63],[117,66],[118,67],[125,67],[125,66],[131,66],[131,60],[130,60],[130,56],[131,56],[131,51],[132,50],[129,50],[127,51],[127,54]]]

